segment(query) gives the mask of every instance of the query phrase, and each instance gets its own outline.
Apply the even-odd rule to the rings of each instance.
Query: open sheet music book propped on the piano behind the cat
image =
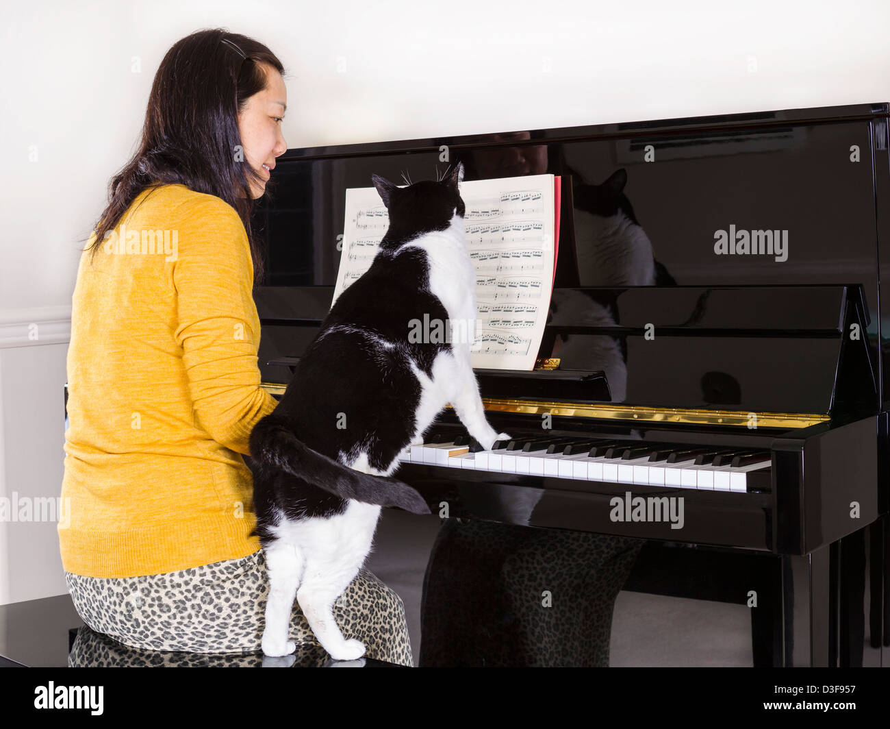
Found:
[[[560,182],[554,175],[535,175],[460,184],[467,250],[476,271],[473,367],[534,367],[556,276]],[[375,187],[346,190],[332,306],[371,266],[388,226]]]

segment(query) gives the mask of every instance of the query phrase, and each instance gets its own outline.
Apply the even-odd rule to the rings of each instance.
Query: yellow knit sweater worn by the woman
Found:
[[[91,237],[91,242],[94,239]],[[166,184],[80,259],[68,350],[64,569],[136,577],[255,553],[254,267],[238,214]]]

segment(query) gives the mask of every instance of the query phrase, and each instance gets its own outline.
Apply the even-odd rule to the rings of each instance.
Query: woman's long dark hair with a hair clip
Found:
[[[139,150],[109,182],[108,207],[86,249],[91,256],[140,192],[178,183],[222,198],[238,211],[250,242],[254,280],[263,280],[263,250],[250,226],[250,180],[262,183],[263,177],[247,164],[238,127],[248,97],[266,87],[261,63],[284,74],[281,61],[265,45],[225,29],[198,30],[167,51],[151,85]],[[271,192],[269,184],[266,192]]]

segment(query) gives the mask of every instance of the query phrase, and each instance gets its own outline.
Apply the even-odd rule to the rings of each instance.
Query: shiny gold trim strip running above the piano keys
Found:
[[[287,385],[276,382],[260,384],[270,395],[284,395]],[[482,397],[486,410],[498,413],[567,415],[573,418],[602,418],[637,422],[686,422],[698,425],[742,425],[748,427],[750,413],[740,410],[687,410],[676,407],[645,407],[643,405],[597,405],[547,402],[544,400],[498,400]],[[451,405],[449,405],[450,407]],[[805,413],[756,413],[757,428],[808,428],[828,422],[829,415]]]

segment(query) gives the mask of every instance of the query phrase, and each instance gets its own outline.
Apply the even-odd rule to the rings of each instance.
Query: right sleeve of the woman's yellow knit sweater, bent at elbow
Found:
[[[173,265],[175,339],[198,424],[218,443],[250,455],[250,432],[277,401],[260,387],[259,318],[247,233],[225,201],[183,206]]]

